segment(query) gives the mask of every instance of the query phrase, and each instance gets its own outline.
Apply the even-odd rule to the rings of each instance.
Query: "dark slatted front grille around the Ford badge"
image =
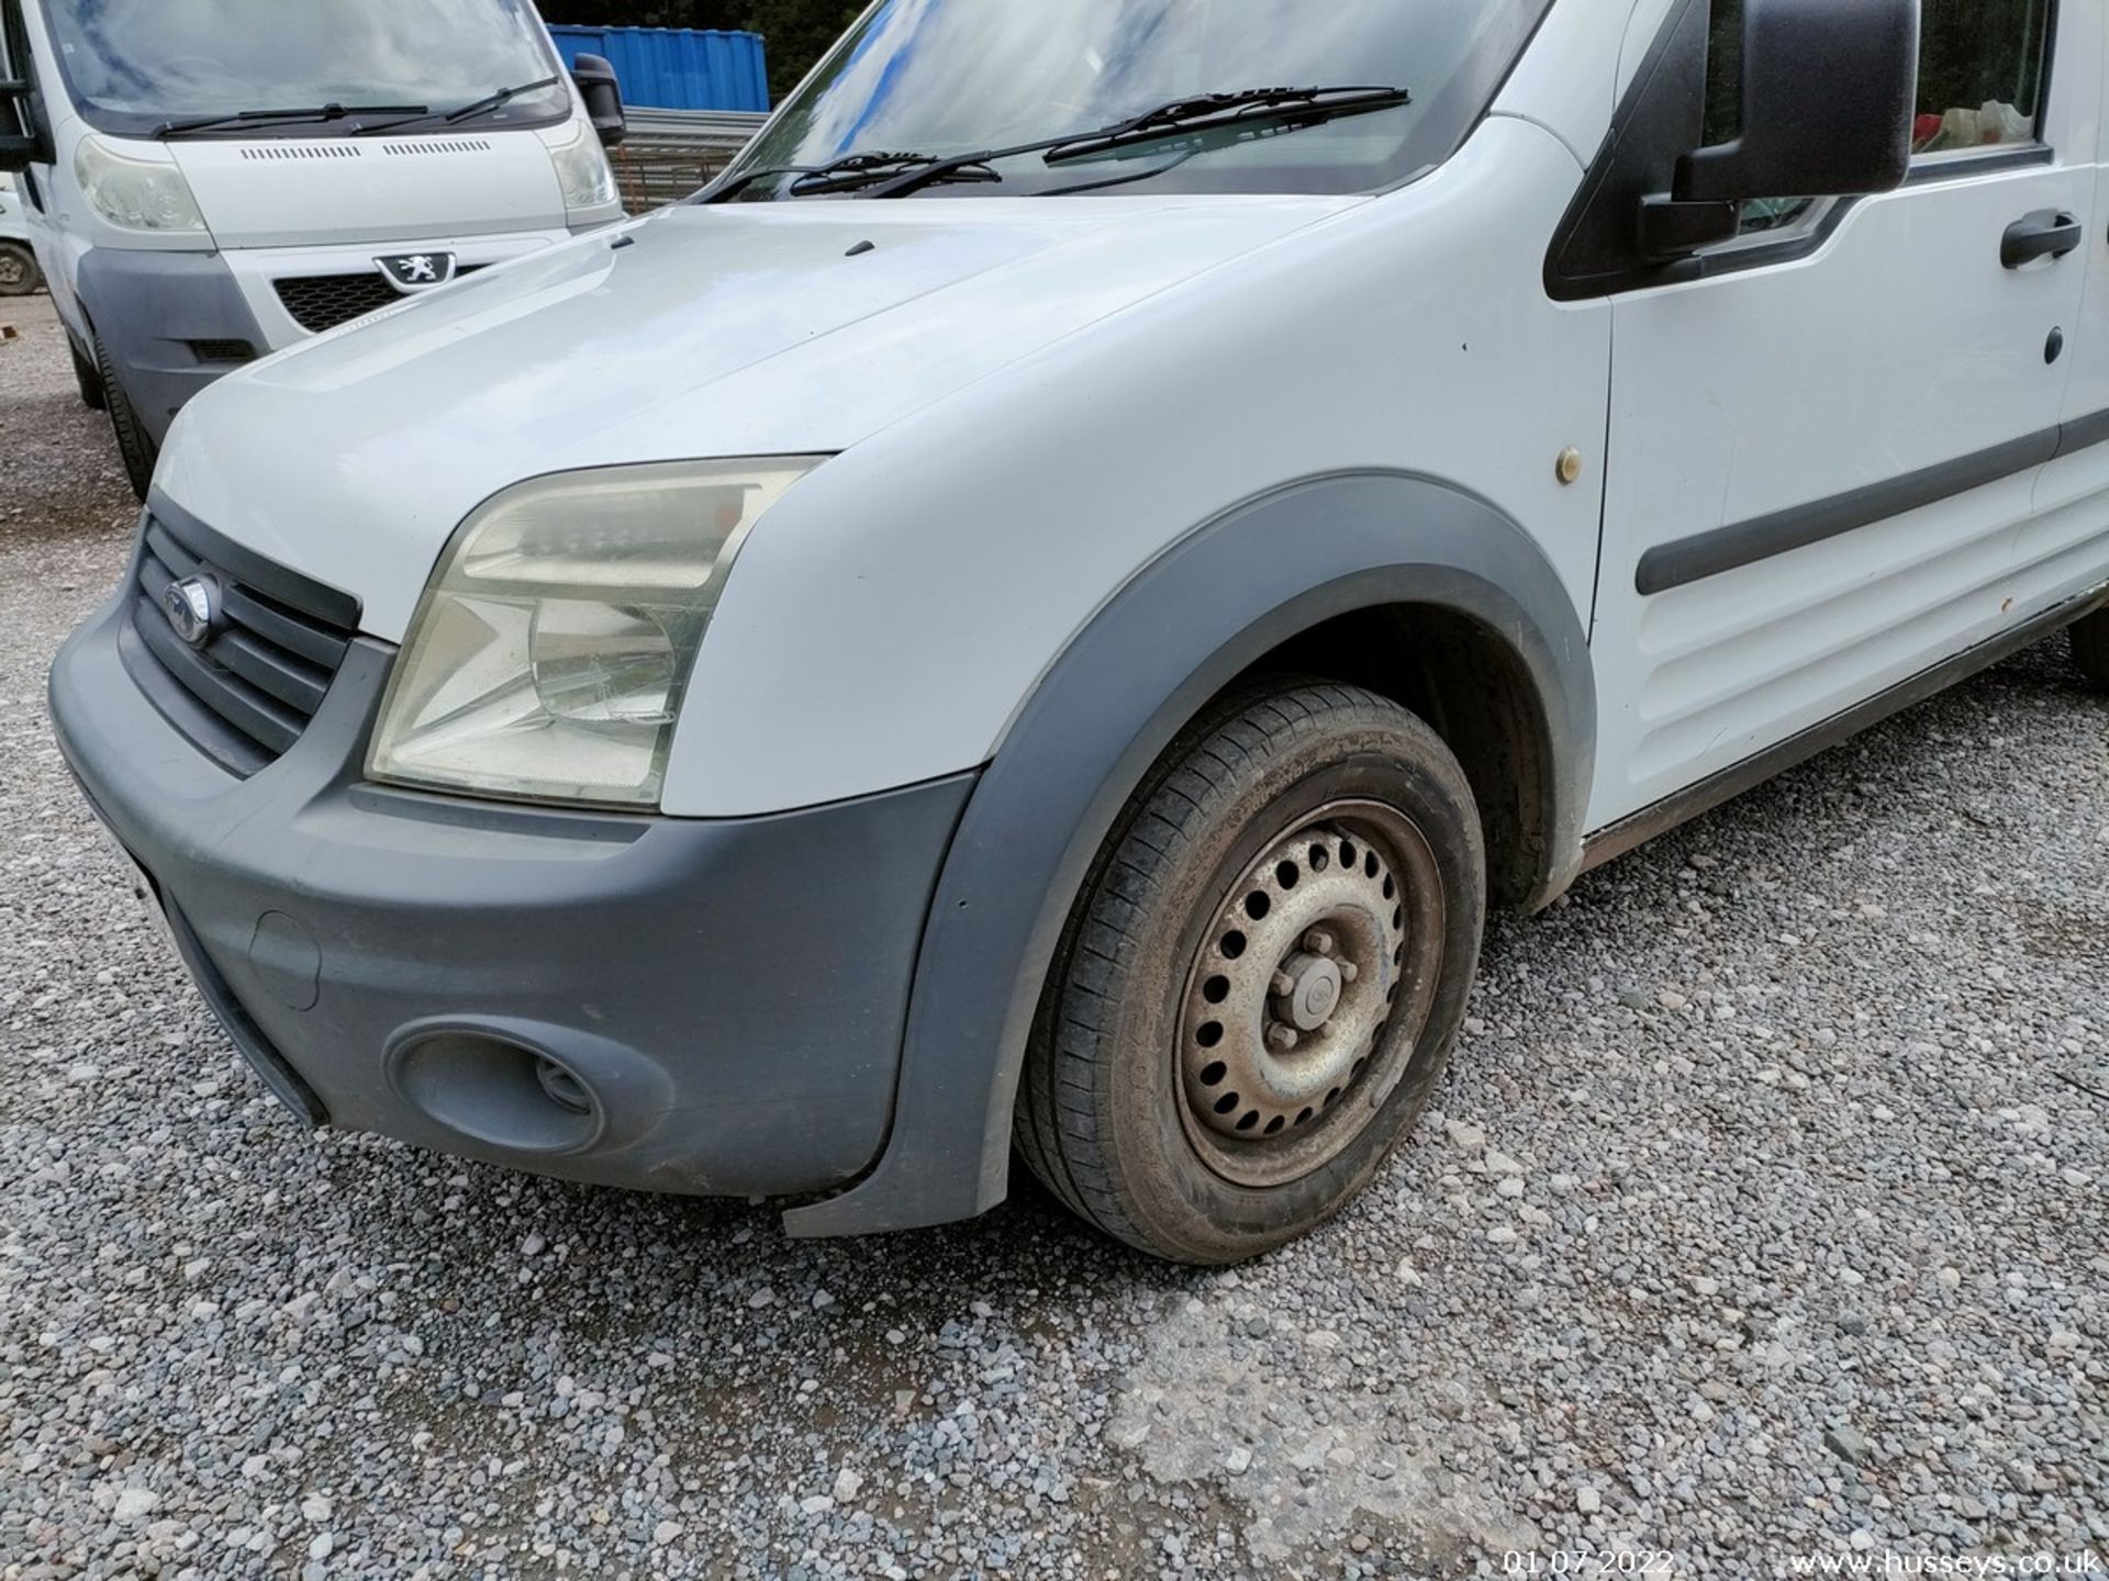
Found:
[[[169,590],[209,582],[217,613],[202,647],[183,641]],[[359,603],[194,523],[148,516],[120,643],[160,713],[232,774],[274,763],[306,731],[359,628]],[[173,683],[173,685],[171,685]]]

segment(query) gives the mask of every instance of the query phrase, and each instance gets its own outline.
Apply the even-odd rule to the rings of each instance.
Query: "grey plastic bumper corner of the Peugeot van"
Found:
[[[247,360],[200,348],[243,344],[255,356],[270,350],[234,270],[217,253],[89,249],[80,259],[80,304],[156,445],[198,390]]]

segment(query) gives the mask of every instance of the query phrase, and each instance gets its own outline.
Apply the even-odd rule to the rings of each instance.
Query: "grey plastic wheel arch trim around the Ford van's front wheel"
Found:
[[[1322,622],[1434,605],[1499,637],[1540,694],[1552,772],[1535,904],[1582,862],[1597,683],[1573,599],[1489,502],[1400,472],[1301,481],[1145,565],[1014,717],[939,877],[909,1003],[892,1134],[793,1235],[970,1218],[1008,1191],[1033,1014],[1092,858],[1152,763],[1240,672]]]

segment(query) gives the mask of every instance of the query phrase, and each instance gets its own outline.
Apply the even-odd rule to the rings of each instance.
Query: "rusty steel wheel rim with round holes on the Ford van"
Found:
[[[1179,1001],[1187,1143],[1240,1187],[1324,1168],[1398,1090],[1434,1008],[1447,902],[1396,807],[1297,816],[1206,913]]]

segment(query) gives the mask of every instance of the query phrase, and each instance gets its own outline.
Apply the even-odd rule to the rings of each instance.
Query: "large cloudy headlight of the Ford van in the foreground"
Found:
[[[732,561],[818,464],[563,472],[481,506],[418,605],[367,774],[656,807],[681,689]]]

